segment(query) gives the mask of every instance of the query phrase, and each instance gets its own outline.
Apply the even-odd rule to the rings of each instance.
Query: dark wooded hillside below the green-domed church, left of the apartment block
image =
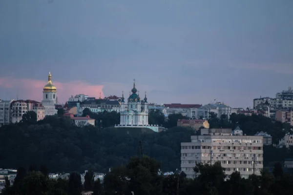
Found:
[[[159,160],[164,171],[172,171],[180,168],[180,144],[191,135],[192,130],[178,127],[158,134],[146,128],[79,128],[69,118],[48,116],[0,128],[0,167],[46,164],[52,172],[106,172],[126,165],[141,141],[144,154]]]

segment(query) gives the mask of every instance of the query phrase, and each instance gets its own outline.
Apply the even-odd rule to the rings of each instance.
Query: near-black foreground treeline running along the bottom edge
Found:
[[[6,179],[3,195],[80,195],[92,191],[94,195],[291,195],[293,176],[284,173],[276,163],[272,174],[263,170],[261,176],[242,178],[234,172],[227,178],[219,162],[213,165],[196,164],[198,175],[188,179],[182,173],[163,176],[160,162],[148,156],[130,158],[126,166],[118,166],[105,175],[104,181],[94,180],[92,171],[84,176],[73,172],[68,179],[50,179],[47,171],[19,168],[13,186]],[[227,179],[226,179],[227,178]]]

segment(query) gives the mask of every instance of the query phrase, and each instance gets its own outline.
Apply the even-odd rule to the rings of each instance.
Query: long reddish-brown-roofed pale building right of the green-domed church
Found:
[[[170,114],[181,114],[189,118],[198,118],[197,110],[202,106],[200,104],[164,104],[167,109],[167,115]]]

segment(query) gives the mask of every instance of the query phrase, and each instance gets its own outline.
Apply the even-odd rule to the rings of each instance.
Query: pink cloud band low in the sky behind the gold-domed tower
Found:
[[[104,97],[104,85],[91,85],[80,80],[63,83],[52,79],[52,82],[57,87],[57,97],[60,103],[65,103],[71,95],[77,94],[99,98],[101,93],[102,98]],[[46,83],[45,80],[4,77],[0,78],[0,89],[4,92],[3,94],[5,94],[5,90],[17,92],[19,99],[42,101],[42,89]]]

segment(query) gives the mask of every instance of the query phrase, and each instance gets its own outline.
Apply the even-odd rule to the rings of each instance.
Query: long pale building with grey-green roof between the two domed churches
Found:
[[[67,102],[68,103],[68,102]],[[88,108],[93,113],[100,112],[112,112],[115,111],[117,113],[121,112],[124,109],[121,109],[121,105],[119,101],[112,101],[107,99],[93,99],[93,100],[85,100],[84,102],[77,102],[77,115],[82,116],[85,108]]]

